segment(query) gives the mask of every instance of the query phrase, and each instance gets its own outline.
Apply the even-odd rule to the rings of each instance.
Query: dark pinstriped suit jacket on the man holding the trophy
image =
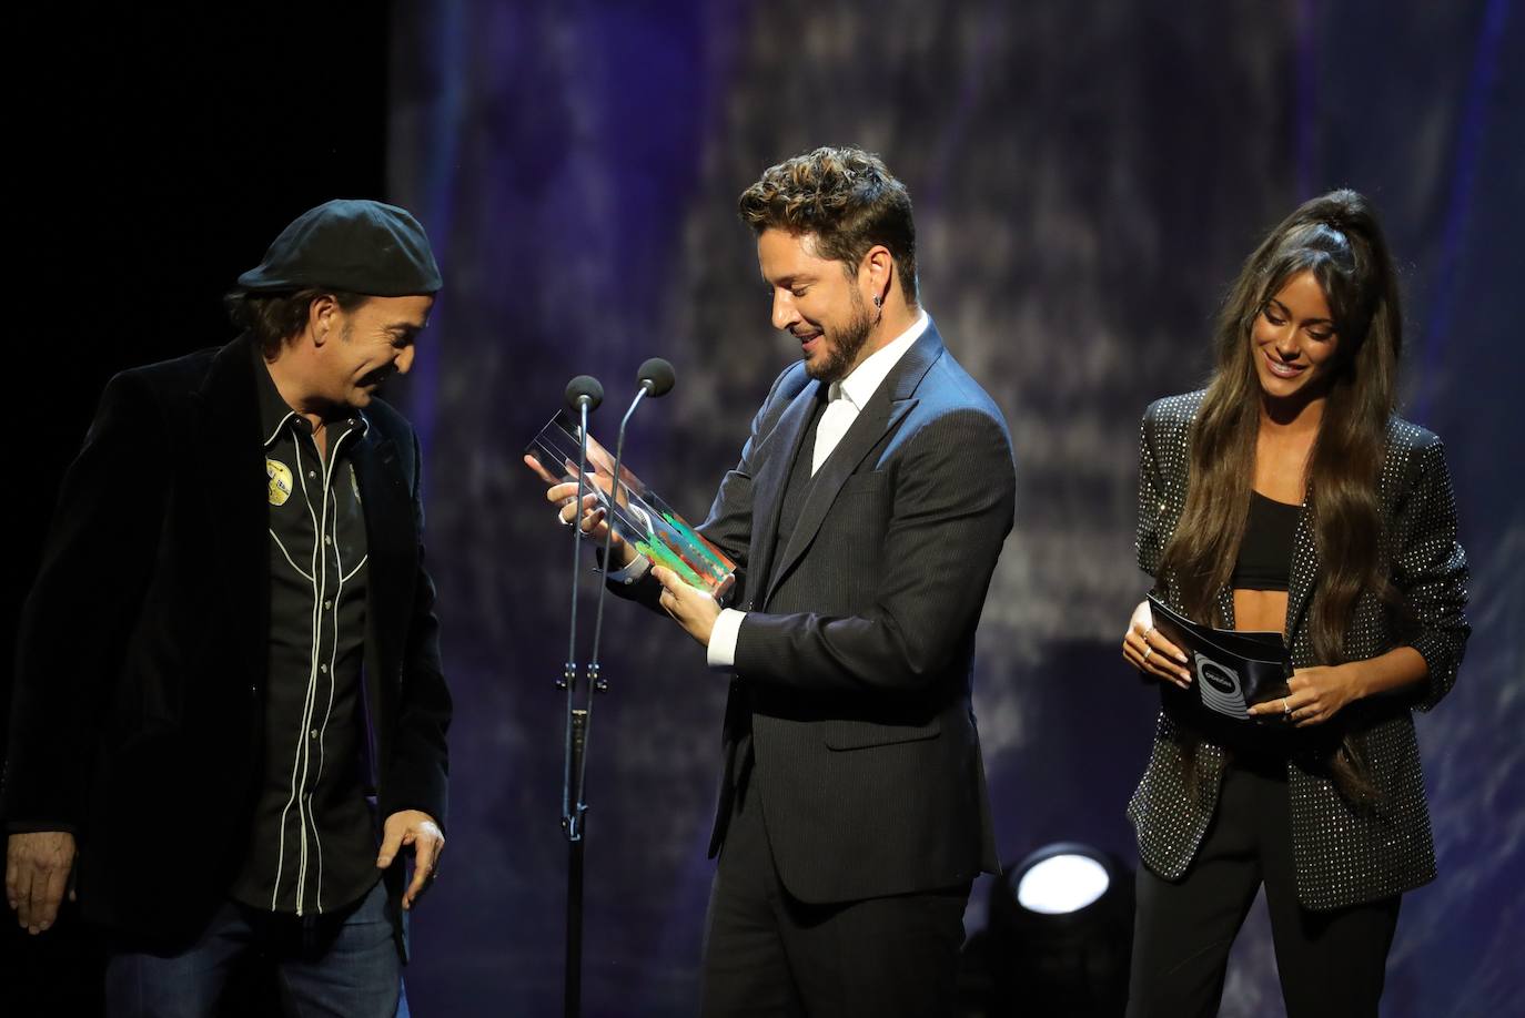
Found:
[[[970,706],[974,628],[1011,530],[1005,421],[935,326],[863,407],[787,547],[778,515],[820,383],[793,364],[698,527],[738,565],[737,639],[711,853],[750,725],[779,878],[808,902],[996,872]],[[624,591],[622,591],[624,593]],[[634,596],[654,602],[656,581]]]

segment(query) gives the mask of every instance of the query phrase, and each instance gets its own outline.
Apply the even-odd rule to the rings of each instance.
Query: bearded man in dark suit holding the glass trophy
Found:
[[[703,1013],[952,1013],[970,881],[997,869],[970,678],[1010,436],[918,305],[910,200],[877,157],[817,149],[740,204],[802,360],[700,526],[734,607],[630,550],[610,576],[732,677]]]

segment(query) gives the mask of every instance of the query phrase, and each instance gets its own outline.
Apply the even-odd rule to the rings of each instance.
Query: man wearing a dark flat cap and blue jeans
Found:
[[[293,1013],[398,1009],[450,693],[418,440],[375,392],[439,288],[412,215],[329,201],[239,276],[236,340],[101,398],[21,617],[0,815],[18,922],[78,895],[113,1015],[212,1015],[249,952]]]

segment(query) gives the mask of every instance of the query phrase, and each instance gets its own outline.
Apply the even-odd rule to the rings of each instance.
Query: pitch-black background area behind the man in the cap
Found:
[[[9,14],[0,754],[17,614],[102,387],[232,338],[223,293],[300,210],[384,197],[389,50],[386,17],[339,5]],[[157,483],[151,456],[142,483]],[[143,837],[166,844],[163,872],[143,879],[172,881],[175,832]],[[72,907],[43,937],[0,917],[0,1015],[98,1010],[99,966]]]

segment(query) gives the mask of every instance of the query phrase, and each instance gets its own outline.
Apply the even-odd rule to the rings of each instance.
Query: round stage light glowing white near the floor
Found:
[[[987,1015],[1121,1015],[1132,951],[1133,873],[1086,844],[1045,846],[991,888]]]

